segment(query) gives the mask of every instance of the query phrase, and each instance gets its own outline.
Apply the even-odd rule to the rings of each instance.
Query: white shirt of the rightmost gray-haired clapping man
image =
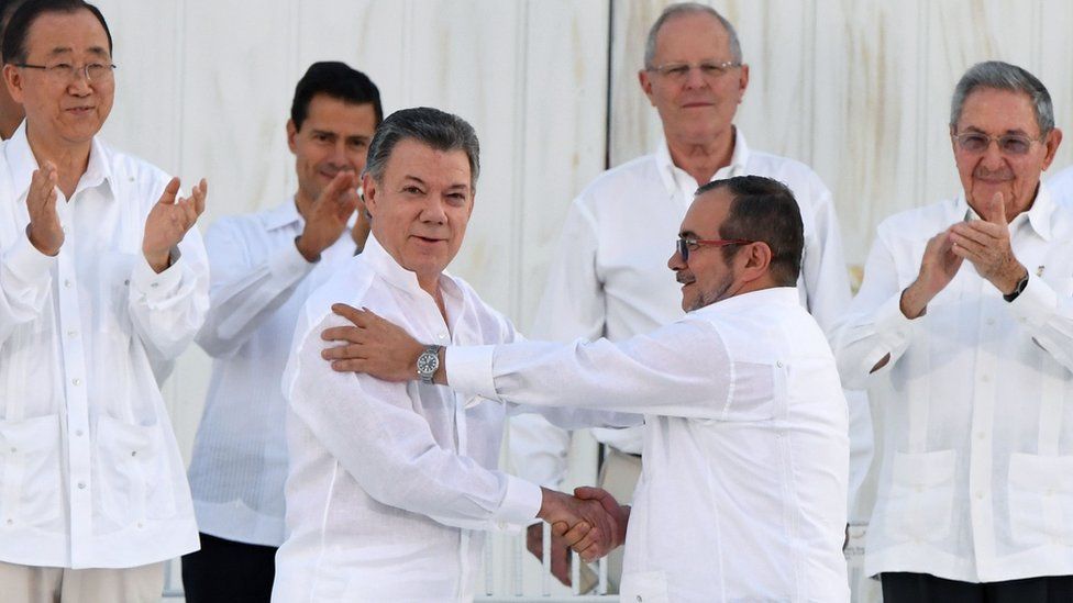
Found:
[[[925,245],[969,215],[961,196],[885,220],[839,331],[843,381],[867,386],[882,413],[865,570],[1071,574],[1073,208],[1041,186],[1010,223],[1030,275],[1013,303],[965,261],[910,321],[899,300]]]

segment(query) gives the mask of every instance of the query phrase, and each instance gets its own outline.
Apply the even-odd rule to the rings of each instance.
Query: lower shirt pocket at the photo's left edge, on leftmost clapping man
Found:
[[[57,528],[64,509],[59,415],[0,422],[0,521]]]

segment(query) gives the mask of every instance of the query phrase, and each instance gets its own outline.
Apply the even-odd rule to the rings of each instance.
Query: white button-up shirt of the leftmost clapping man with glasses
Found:
[[[0,561],[126,568],[198,548],[158,380],[209,308],[197,228],[155,273],[145,219],[168,177],[95,138],[57,212],[59,253],[25,234],[37,163],[0,150]]]

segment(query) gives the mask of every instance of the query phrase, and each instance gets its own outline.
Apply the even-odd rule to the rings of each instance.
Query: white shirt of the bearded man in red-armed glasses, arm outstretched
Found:
[[[845,400],[797,291],[620,343],[450,347],[460,392],[645,414],[621,600],[849,601]]]

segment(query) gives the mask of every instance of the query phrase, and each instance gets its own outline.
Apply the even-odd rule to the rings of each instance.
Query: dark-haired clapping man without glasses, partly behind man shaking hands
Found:
[[[189,471],[201,550],[182,558],[188,603],[272,595],[284,541],[287,403],[269,376],[284,370],[306,298],[365,245],[356,189],[381,115],[365,74],[314,63],[298,81],[286,129],[298,190],[206,235],[212,305],[197,342],[213,366]]]

